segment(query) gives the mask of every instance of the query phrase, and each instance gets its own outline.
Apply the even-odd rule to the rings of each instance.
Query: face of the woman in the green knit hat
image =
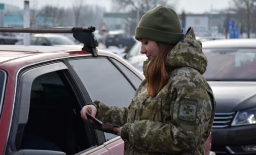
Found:
[[[149,60],[154,60],[159,53],[159,47],[157,45],[157,42],[147,39],[141,39],[140,42],[140,53],[145,54]]]

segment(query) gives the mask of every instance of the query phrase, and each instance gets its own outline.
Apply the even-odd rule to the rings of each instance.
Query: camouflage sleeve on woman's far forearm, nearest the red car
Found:
[[[119,126],[123,126],[126,123],[128,115],[127,107],[108,106],[97,100],[93,104],[97,108],[96,118],[101,122]]]

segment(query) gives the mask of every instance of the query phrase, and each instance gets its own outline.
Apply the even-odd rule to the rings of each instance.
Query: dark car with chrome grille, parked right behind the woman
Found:
[[[216,99],[212,150],[256,154],[256,39],[203,42],[203,52]]]

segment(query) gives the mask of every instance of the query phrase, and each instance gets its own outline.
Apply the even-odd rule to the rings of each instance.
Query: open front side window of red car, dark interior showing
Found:
[[[28,90],[28,119],[22,129],[20,149],[76,154],[93,146],[92,135],[84,126],[81,106],[66,79],[66,72],[44,73],[32,81]]]

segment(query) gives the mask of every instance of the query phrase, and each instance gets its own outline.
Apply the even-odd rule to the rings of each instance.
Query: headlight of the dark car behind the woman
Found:
[[[256,124],[256,108],[238,111],[231,126]]]

